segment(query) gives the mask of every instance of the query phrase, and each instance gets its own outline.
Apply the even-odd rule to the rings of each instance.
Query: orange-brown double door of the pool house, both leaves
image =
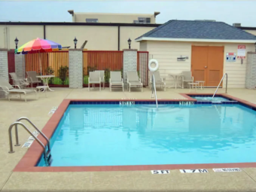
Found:
[[[194,81],[217,87],[223,75],[224,47],[192,46],[191,71]]]

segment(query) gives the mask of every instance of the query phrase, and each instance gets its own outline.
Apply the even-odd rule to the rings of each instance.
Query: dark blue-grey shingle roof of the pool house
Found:
[[[140,36],[148,38],[200,38],[255,40],[256,36],[223,22],[198,20],[169,20]],[[139,38],[136,38],[139,39]]]

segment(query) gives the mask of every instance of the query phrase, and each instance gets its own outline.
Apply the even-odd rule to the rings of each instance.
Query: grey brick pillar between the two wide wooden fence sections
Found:
[[[83,49],[69,49],[69,88],[83,88]]]

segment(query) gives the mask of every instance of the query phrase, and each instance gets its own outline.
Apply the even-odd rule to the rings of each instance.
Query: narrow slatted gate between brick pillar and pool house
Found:
[[[148,86],[148,51],[137,52],[137,70],[143,86]]]

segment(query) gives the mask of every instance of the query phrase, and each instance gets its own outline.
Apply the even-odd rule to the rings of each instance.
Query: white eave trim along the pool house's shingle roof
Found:
[[[216,43],[251,43],[254,44],[256,40],[237,40],[237,39],[208,39],[208,38],[148,38],[142,37],[135,40],[139,41],[196,41],[196,42],[216,42]]]

